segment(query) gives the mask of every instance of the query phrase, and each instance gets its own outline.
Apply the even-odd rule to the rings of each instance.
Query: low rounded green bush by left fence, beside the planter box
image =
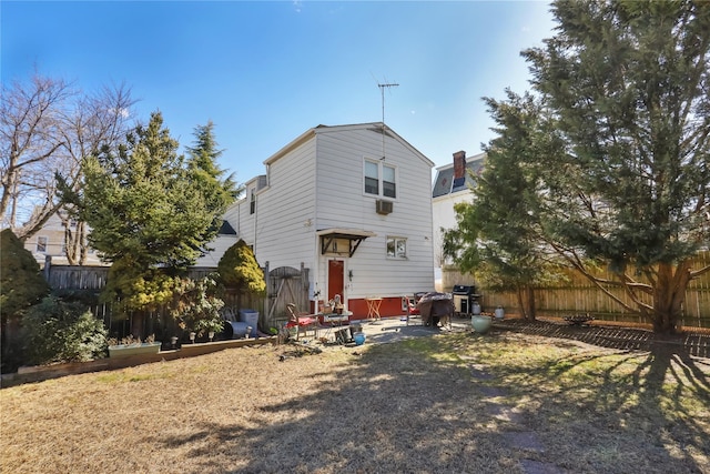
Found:
[[[28,364],[84,362],[102,357],[106,330],[87,306],[48,296],[22,320]]]

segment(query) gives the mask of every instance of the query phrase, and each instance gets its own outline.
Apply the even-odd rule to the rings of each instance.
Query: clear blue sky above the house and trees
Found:
[[[481,97],[528,89],[519,57],[552,36],[542,1],[7,1],[3,83],[43,75],[84,91],[125,83],[182,145],[212,120],[244,182],[318,124],[385,121],[436,165],[493,138]]]

